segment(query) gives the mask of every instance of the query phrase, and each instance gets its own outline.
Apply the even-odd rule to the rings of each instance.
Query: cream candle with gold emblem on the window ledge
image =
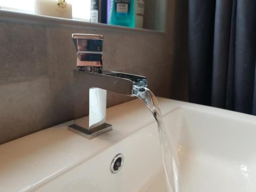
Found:
[[[65,0],[36,0],[35,13],[53,17],[72,18],[72,5]]]

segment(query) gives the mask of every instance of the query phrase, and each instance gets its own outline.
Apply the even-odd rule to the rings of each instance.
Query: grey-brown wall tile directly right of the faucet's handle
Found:
[[[104,68],[126,69],[147,67],[166,62],[164,35],[111,33],[104,36]]]

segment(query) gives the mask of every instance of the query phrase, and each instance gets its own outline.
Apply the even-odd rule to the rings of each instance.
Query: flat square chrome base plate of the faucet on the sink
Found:
[[[112,130],[112,125],[108,124],[108,123],[103,123],[91,130],[85,129],[77,124],[69,125],[69,127],[71,127],[72,129],[75,129],[79,132],[84,133],[87,139],[92,139],[98,135],[101,135],[105,132]]]

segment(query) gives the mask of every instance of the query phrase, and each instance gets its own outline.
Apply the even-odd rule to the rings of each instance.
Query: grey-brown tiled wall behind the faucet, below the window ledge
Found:
[[[37,23],[0,13],[0,143],[73,119],[72,33],[102,34],[104,69],[144,75],[157,96],[169,97],[164,33]],[[130,99],[109,92],[108,106]]]

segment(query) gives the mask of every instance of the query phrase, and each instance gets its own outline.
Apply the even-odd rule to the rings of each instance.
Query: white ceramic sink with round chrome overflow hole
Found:
[[[159,98],[187,192],[256,191],[256,117]],[[166,191],[157,124],[138,99],[87,140],[72,121],[0,145],[0,191]],[[110,164],[123,154],[120,172]]]

